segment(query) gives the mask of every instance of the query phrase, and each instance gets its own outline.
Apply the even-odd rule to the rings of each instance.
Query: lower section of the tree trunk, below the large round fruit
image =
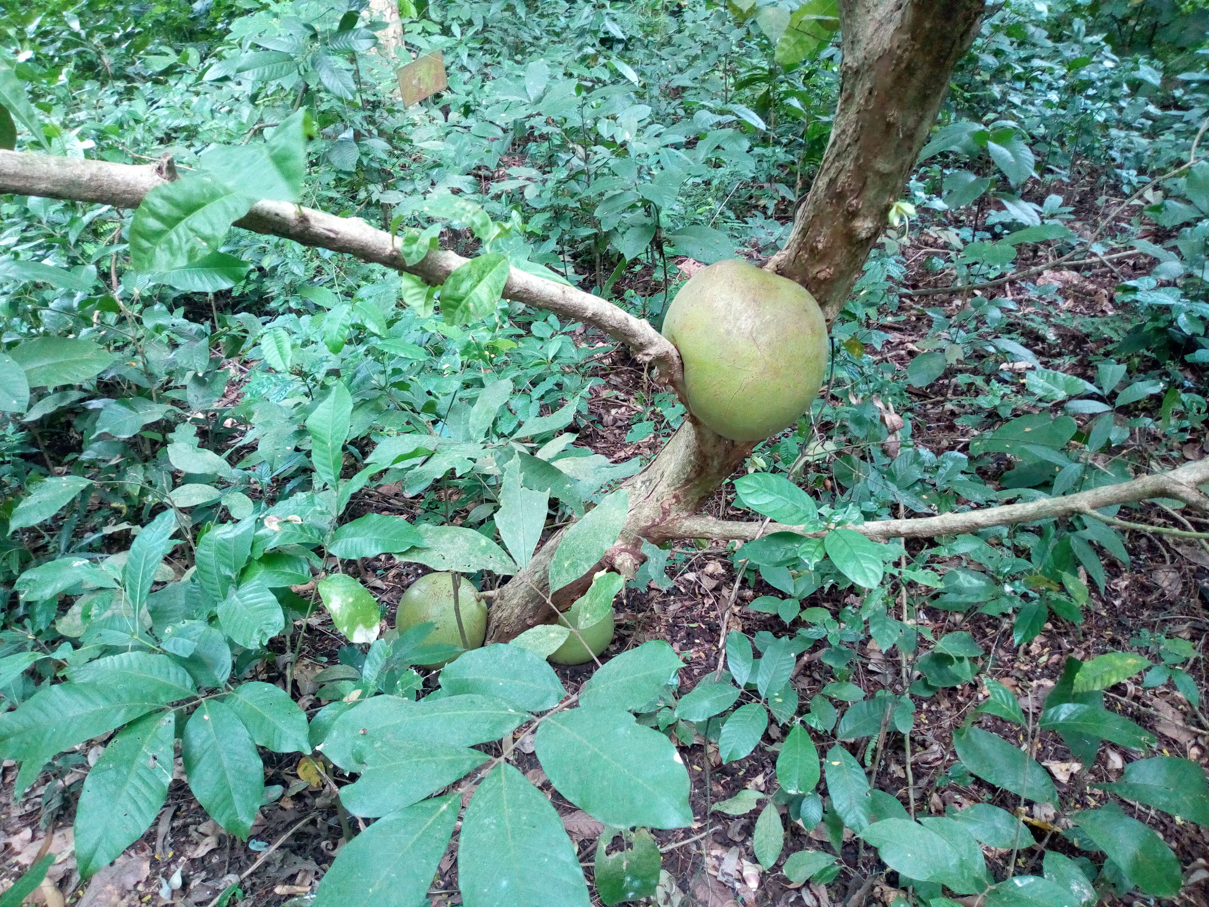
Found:
[[[554,623],[553,603],[569,608],[591,585],[592,574],[604,567],[634,577],[642,562],[641,539],[658,536],[663,522],[696,513],[715,491],[747,458],[751,444],[715,434],[686,417],[659,455],[624,487],[630,492],[630,513],[618,543],[574,583],[550,595],[550,560],[566,530],[555,533],[533,560],[499,589],[491,608],[488,642],[507,642],[538,624]]]

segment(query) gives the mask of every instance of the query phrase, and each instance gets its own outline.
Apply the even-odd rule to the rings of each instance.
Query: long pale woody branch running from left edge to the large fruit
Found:
[[[135,166],[0,150],[0,193],[137,208],[143,196],[173,178],[170,158]],[[289,202],[258,202],[235,225],[407,271],[432,285],[444,283],[467,262],[452,252],[434,249],[418,264],[407,265],[399,254],[398,237],[370,226],[360,218],[339,218]],[[681,383],[681,360],[676,347],[650,324],[600,296],[514,267],[504,287],[504,297],[554,312],[568,320],[592,324],[627,345],[638,362],[656,363],[673,386]]]

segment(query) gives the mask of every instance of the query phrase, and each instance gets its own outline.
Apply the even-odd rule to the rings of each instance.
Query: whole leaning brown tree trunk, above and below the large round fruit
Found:
[[[786,247],[768,267],[809,289],[834,320],[899,197],[944,100],[953,68],[970,50],[983,0],[840,0],[844,62],[835,121],[818,175]],[[742,463],[752,445],[728,441],[686,420],[655,460],[631,479],[631,509],[617,556],[635,565],[637,539],[688,516]],[[650,531],[658,537],[658,531]],[[555,535],[502,587],[490,640],[507,642],[566,611],[597,565],[549,595]]]

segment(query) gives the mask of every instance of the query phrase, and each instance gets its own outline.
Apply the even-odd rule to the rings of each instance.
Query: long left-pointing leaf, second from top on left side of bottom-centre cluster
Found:
[[[413,703],[401,697],[366,699],[336,718],[318,749],[346,772],[360,772],[378,745],[400,740],[473,746],[499,740],[528,720],[502,699],[445,695]]]

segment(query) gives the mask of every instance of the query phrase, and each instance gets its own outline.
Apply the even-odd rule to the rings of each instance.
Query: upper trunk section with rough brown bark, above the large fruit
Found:
[[[789,241],[767,267],[848,302],[932,128],[983,0],[840,0],[844,62],[831,141]]]

